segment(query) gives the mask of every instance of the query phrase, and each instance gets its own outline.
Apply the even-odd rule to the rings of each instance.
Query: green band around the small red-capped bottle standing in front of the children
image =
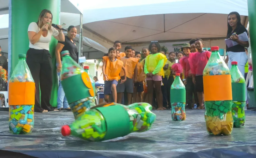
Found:
[[[186,90],[185,89],[171,89],[171,103],[185,103],[186,102]]]

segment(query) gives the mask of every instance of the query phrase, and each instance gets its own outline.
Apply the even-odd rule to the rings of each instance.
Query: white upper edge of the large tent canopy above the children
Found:
[[[94,5],[95,3],[97,2],[94,2]],[[94,8],[89,8],[90,6],[84,8],[84,24],[116,18],[171,13],[229,14],[237,11],[240,15],[248,16],[247,0],[130,0],[125,2],[124,0],[99,0],[98,5]]]

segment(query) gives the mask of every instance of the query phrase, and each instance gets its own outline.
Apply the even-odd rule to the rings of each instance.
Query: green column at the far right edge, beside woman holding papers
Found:
[[[252,74],[256,74],[256,1],[247,0],[249,27],[250,27],[250,45],[252,49]],[[256,75],[253,76],[253,83],[256,83]],[[254,90],[254,97],[256,98],[256,89]]]

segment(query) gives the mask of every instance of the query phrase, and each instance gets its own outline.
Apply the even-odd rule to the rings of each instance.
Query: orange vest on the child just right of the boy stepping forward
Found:
[[[132,79],[135,66],[139,62],[139,59],[132,58],[132,57],[130,57],[130,58],[121,57],[121,61],[123,61],[123,63],[124,63],[124,67],[126,70],[126,77]],[[120,76],[124,76],[123,70],[121,70]]]

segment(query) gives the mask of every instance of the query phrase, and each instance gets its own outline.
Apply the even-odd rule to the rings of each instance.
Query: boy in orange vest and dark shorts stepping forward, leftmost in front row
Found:
[[[120,79],[119,73],[121,70],[124,72],[124,79],[120,81],[123,84],[126,81],[126,70],[123,66],[123,61],[117,60],[116,58],[116,49],[114,47],[109,48],[108,56],[103,56],[103,78],[104,78],[104,100],[109,103],[109,95],[113,95],[113,100],[117,103],[117,92],[116,86],[118,80]]]

